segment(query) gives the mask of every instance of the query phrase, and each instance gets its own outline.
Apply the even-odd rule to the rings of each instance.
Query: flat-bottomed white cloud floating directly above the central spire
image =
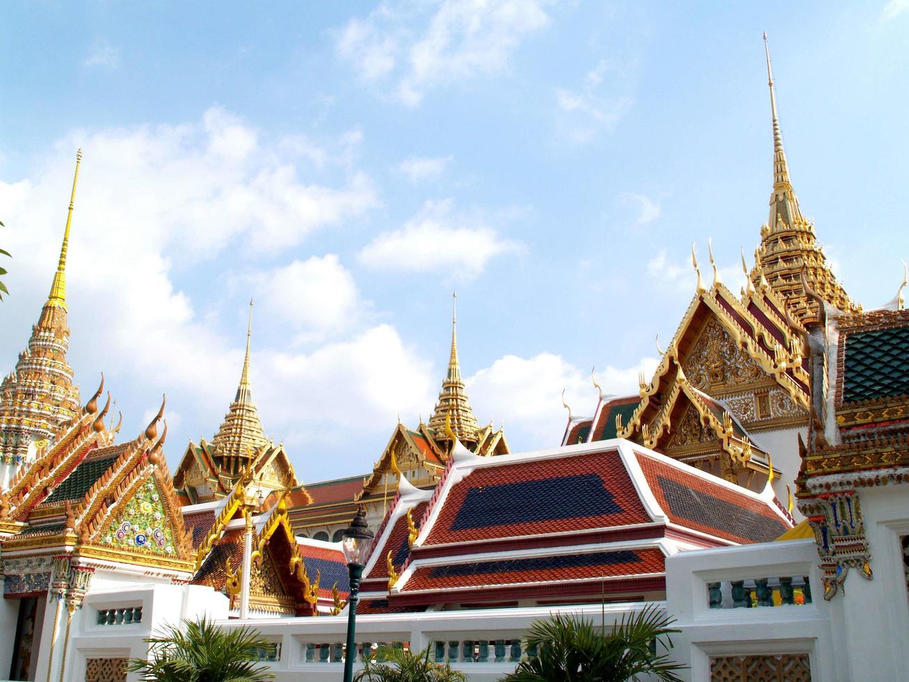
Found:
[[[427,201],[400,230],[385,232],[359,254],[366,266],[414,272],[442,271],[474,277],[495,256],[523,249],[504,239],[482,217],[452,216],[453,202]]]

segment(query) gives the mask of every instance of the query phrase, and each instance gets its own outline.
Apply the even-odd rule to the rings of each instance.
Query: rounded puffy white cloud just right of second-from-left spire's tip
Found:
[[[321,340],[345,331],[361,316],[364,305],[354,276],[338,256],[312,256],[305,261],[251,276],[256,303],[270,318],[285,320],[297,340]]]

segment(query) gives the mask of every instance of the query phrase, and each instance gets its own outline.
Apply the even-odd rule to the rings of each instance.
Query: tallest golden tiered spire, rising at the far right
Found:
[[[783,148],[783,134],[776,113],[774,72],[770,65],[770,48],[764,34],[767,58],[767,81],[770,87],[770,110],[774,129],[774,191],[770,195],[770,216],[761,227],[761,246],[754,252],[751,279],[755,286],[768,283],[786,302],[786,306],[803,325],[818,320],[818,303],[802,286],[808,285],[828,303],[846,313],[855,313],[854,304],[843,286],[836,281],[824,252],[814,236],[814,225],[802,216],[798,198],[789,178],[789,165]]]

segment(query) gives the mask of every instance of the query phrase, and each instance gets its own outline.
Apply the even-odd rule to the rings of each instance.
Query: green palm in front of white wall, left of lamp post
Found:
[[[258,665],[260,655],[275,647],[249,627],[229,630],[202,617],[145,640],[148,659],[131,658],[128,670],[143,682],[265,682],[275,679]]]

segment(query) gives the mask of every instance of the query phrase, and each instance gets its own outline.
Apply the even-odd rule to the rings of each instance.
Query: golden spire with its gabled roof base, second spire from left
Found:
[[[231,493],[241,478],[254,481],[255,490],[269,491],[296,485],[294,468],[283,444],[265,436],[249,382],[249,353],[253,336],[253,302],[249,302],[246,353],[234,401],[211,441],[190,442],[174,475],[174,486],[185,505],[220,499]],[[305,496],[305,493],[304,493]]]

